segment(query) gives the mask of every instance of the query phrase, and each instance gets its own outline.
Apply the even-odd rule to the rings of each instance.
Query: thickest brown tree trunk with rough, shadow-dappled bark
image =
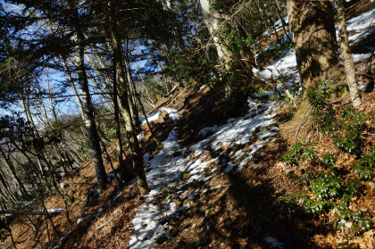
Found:
[[[287,0],[287,16],[305,94],[327,79],[338,62],[333,8],[329,2]]]

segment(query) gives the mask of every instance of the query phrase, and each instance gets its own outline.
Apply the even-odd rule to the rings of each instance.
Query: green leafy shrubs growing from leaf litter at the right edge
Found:
[[[302,190],[281,196],[276,202],[288,212],[315,217],[328,214],[336,228],[346,238],[352,238],[373,228],[374,214],[354,209],[353,200],[362,195],[366,182],[374,177],[375,147],[366,148],[365,138],[375,122],[372,114],[358,111],[351,104],[334,108],[329,103],[331,93],[329,84],[322,83],[310,88],[307,98],[312,106],[312,127],[321,136],[331,137],[338,153],[320,154],[318,144],[310,141],[293,145],[281,159],[293,169],[288,171],[287,178],[301,184]],[[343,154],[354,156],[355,162],[349,167],[337,165],[338,156]]]

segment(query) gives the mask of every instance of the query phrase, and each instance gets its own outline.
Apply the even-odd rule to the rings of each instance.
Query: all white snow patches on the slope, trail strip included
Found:
[[[276,24],[279,25],[280,21]],[[349,30],[368,29],[373,25],[375,25],[375,10],[365,12],[348,21]],[[278,29],[280,29],[279,26]],[[365,37],[372,31],[361,30],[360,33],[351,37],[351,41]],[[296,68],[296,54],[293,49],[285,52],[284,57],[271,62],[264,70],[253,69],[254,73],[264,79],[293,76],[288,79],[287,86],[294,82],[298,83],[300,78]],[[368,56],[370,55],[354,54],[354,61],[362,61],[363,58],[368,58]],[[263,95],[271,95],[271,93],[264,93]],[[260,96],[256,95],[256,97]],[[274,126],[274,114],[272,112],[278,108],[278,105],[274,102],[267,104],[255,103],[250,97],[248,98],[248,104],[250,111],[245,117],[229,119],[222,126],[201,129],[199,134],[203,139],[195,145],[185,149],[180,148],[178,131],[175,128],[171,130],[169,137],[162,143],[163,149],[159,154],[155,155],[152,160],[149,160],[149,154],[145,156],[144,160],[147,163],[145,168],[146,177],[152,190],[146,196],[146,202],[137,209],[136,218],[132,220],[134,232],[133,236],[130,237],[130,248],[150,248],[156,243],[158,238],[168,237],[167,228],[169,228],[169,225],[166,220],[178,216],[179,212],[188,208],[188,204],[177,208],[173,202],[174,195],[168,194],[165,189],[166,187],[174,188],[177,190],[175,195],[179,195],[179,199],[182,198],[182,200],[199,195],[201,192],[199,187],[190,194],[179,189],[183,189],[183,186],[190,182],[206,181],[210,178],[204,177],[204,169],[210,162],[218,162],[218,160],[216,158],[210,162],[203,162],[209,151],[219,150],[225,145],[245,145],[251,140],[254,141],[254,144],[247,147],[246,150],[233,151],[225,159],[221,160],[221,167],[226,173],[230,171],[239,172],[252,159],[253,155],[259,152],[262,145],[276,137],[278,128]],[[157,120],[162,111],[168,112],[172,120],[179,119],[176,110],[162,108],[159,112],[147,116],[148,120]],[[144,117],[141,117],[140,120],[142,124],[146,123]],[[256,139],[253,139],[254,137]],[[184,156],[183,154],[188,155]],[[194,154],[193,158],[191,158],[191,154]],[[204,154],[207,155],[204,157]],[[185,181],[181,180],[183,173],[189,175],[189,178]],[[163,197],[164,200],[161,202],[160,198],[156,198],[158,196],[166,197]],[[284,248],[284,244],[274,237],[266,237],[265,241],[273,247]]]

